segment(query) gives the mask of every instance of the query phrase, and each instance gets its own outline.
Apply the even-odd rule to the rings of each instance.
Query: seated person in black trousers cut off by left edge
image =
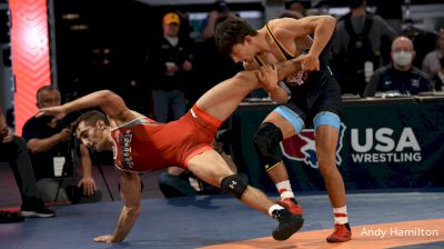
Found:
[[[53,217],[38,197],[34,173],[24,140],[12,133],[0,107],[0,160],[9,161],[21,193],[21,216],[0,212],[0,223],[22,221],[23,217]]]

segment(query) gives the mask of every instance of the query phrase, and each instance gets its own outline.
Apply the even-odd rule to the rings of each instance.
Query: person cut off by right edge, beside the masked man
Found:
[[[422,69],[435,82],[435,89],[441,91],[444,84],[444,29],[436,34],[436,49],[425,56]]]

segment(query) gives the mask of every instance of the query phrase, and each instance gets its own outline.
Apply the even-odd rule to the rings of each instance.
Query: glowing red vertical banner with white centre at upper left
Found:
[[[10,0],[11,56],[16,80],[16,131],[37,112],[37,90],[51,84],[47,0]]]

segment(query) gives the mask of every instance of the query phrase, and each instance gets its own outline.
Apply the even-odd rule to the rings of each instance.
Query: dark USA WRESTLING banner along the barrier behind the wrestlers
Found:
[[[253,186],[274,191],[251,142],[269,110],[241,107],[232,129],[242,145],[236,163]],[[335,161],[347,189],[444,187],[444,100],[347,106],[343,121]],[[295,190],[325,189],[313,129],[284,140],[281,149]]]

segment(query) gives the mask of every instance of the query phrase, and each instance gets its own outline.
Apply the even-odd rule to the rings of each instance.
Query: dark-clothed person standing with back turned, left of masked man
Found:
[[[350,0],[349,3],[350,12],[336,26],[330,64],[342,93],[362,94],[373,69],[384,64],[381,50],[386,44],[389,51],[395,31],[380,16],[366,12],[365,0]]]

